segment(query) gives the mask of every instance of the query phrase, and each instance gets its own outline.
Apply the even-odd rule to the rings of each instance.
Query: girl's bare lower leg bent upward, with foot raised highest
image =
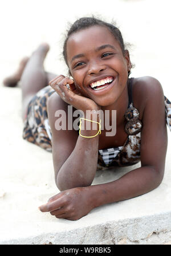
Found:
[[[55,78],[55,74],[44,71],[43,62],[49,50],[48,44],[40,44],[28,60],[21,77],[22,88],[22,118],[26,118],[27,106],[31,98],[43,87],[47,86],[48,79]]]

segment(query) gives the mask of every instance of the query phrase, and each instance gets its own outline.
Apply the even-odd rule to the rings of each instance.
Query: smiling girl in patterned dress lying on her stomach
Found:
[[[48,50],[41,44],[21,68],[23,138],[52,150],[61,191],[39,209],[78,220],[97,206],[157,188],[164,176],[171,103],[157,79],[129,78],[132,64],[119,29],[93,17],[78,19],[63,47],[70,78],[43,70]],[[74,129],[76,119],[72,127],[67,123],[59,129],[58,111],[66,113],[60,117],[64,123],[76,110],[83,114],[79,131]],[[112,123],[111,129],[115,125],[116,133],[109,135],[102,121]],[[140,168],[118,180],[91,185],[97,169],[139,161]]]

